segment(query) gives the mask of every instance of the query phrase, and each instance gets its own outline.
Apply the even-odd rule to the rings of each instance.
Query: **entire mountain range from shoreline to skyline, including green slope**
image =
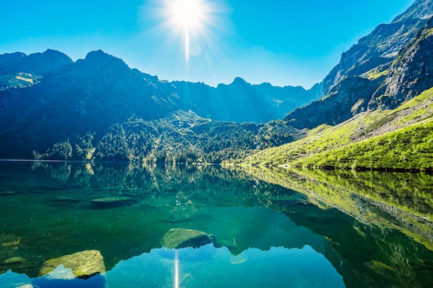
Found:
[[[77,61],[55,50],[0,55],[0,158],[405,169],[401,149],[417,162],[433,146],[432,16],[432,0],[415,1],[309,90],[168,82],[101,50]],[[394,157],[358,161],[376,138]]]

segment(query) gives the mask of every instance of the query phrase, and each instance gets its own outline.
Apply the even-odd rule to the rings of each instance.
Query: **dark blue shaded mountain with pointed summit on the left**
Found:
[[[156,77],[102,51],[37,77],[38,84],[0,92],[2,157],[28,157],[32,149],[106,131],[133,115],[154,119],[177,108],[176,96],[162,90],[169,84],[157,86]]]

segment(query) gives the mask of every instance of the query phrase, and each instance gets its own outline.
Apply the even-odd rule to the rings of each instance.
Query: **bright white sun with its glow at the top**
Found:
[[[208,61],[210,55],[220,52],[219,37],[228,31],[230,11],[225,0],[147,1],[150,3],[143,6],[142,19],[154,26],[149,31],[164,40],[163,50],[171,49],[170,56],[176,49],[189,67],[190,56]]]

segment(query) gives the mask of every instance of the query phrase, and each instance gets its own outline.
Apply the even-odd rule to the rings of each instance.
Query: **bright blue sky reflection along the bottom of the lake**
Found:
[[[178,267],[178,273],[176,273]],[[68,278],[68,269],[57,275]],[[177,276],[177,277],[176,277]],[[31,279],[0,275],[0,287],[345,287],[331,263],[306,245],[302,249],[248,249],[237,256],[208,244],[197,249],[152,249],[122,260],[104,276],[89,280]],[[5,285],[5,283],[8,283]],[[26,287],[26,286],[24,286]],[[30,287],[30,286],[28,286]],[[26,287],[27,288],[27,287]]]

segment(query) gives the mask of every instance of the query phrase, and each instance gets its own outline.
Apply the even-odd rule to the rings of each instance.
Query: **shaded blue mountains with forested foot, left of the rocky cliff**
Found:
[[[235,122],[284,117],[317,99],[321,90],[320,84],[307,91],[251,85],[241,78],[216,88],[169,83],[101,50],[75,62],[53,50],[1,55],[1,71],[0,158],[83,160],[96,151],[98,160],[137,160],[143,153],[154,159],[149,153],[158,148],[165,159],[166,150],[197,144],[194,155],[227,148],[246,151],[260,146],[256,137],[263,139],[262,146],[272,146],[268,131],[273,129],[257,135],[268,124]],[[273,132],[279,131],[275,144],[293,139],[281,130]]]

